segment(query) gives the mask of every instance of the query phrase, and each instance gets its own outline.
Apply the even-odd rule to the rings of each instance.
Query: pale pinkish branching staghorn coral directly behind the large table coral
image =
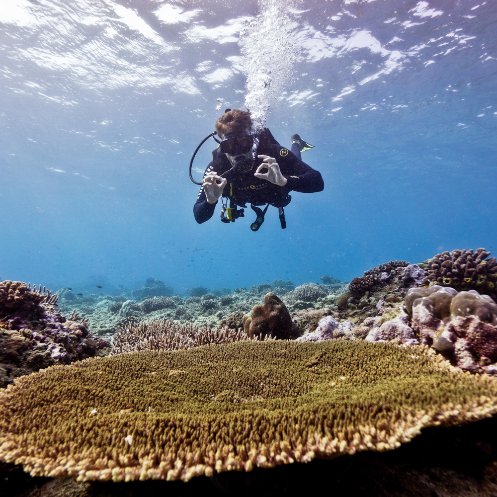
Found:
[[[213,330],[208,326],[199,328],[189,323],[181,325],[172,319],[150,320],[119,327],[112,338],[114,347],[111,354],[138,350],[188,349],[208,343],[231,343],[248,339],[243,326],[233,329],[229,325],[220,325]]]

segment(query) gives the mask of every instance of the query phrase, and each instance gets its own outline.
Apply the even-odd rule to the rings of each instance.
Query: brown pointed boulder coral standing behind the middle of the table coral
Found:
[[[250,338],[260,339],[265,336],[290,338],[298,333],[285,304],[271,292],[266,293],[264,305],[254,306],[251,315],[244,317],[244,330]]]

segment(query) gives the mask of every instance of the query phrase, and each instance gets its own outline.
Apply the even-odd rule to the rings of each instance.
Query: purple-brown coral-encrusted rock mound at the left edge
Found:
[[[57,295],[19,281],[0,282],[0,388],[15,377],[104,353],[87,320],[57,311]]]

